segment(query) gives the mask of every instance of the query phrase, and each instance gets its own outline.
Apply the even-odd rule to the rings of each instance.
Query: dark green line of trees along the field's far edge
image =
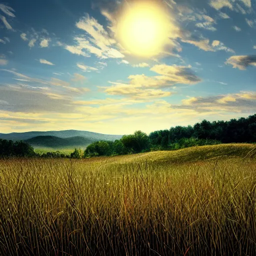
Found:
[[[0,156],[82,158],[154,150],[175,150],[189,146],[230,142],[256,142],[256,114],[229,121],[202,120],[193,126],[170,127],[170,129],[153,131],[149,135],[137,130],[133,134],[123,135],[115,141],[95,141],[89,144],[84,151],[75,148],[70,155],[59,151],[38,154],[24,141],[13,142],[0,139]]]

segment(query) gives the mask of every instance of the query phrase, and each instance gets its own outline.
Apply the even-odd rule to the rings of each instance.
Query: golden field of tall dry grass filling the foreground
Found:
[[[0,159],[0,255],[253,256],[255,153]]]

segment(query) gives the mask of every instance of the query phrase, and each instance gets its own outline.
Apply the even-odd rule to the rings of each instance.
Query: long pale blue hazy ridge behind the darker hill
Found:
[[[83,137],[91,141],[97,140],[115,140],[120,139],[122,135],[101,134],[84,130],[51,130],[51,131],[27,131],[0,133],[0,138],[11,140],[26,140],[36,136],[55,136],[59,138]]]

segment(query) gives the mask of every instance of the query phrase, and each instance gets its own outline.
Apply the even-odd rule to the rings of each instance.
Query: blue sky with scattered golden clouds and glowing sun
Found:
[[[256,112],[254,0],[0,2],[0,132],[149,133]]]

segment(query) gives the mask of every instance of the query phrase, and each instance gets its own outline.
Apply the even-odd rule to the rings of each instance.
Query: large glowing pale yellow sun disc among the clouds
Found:
[[[157,55],[168,40],[169,20],[156,3],[143,1],[129,5],[117,23],[121,45],[134,55]]]

